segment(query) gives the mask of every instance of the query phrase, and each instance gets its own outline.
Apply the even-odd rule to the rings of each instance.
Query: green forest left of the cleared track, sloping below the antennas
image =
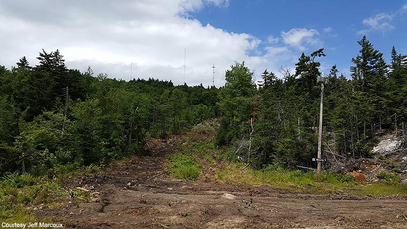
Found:
[[[96,77],[68,69],[59,50],[0,66],[0,174],[44,174],[140,152],[147,134],[166,137],[218,114],[218,89],[158,79]]]

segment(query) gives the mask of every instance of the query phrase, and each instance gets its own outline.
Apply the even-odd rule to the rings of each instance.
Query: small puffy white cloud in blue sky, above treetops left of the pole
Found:
[[[318,31],[314,29],[307,30],[306,28],[292,28],[288,32],[281,32],[284,44],[295,47],[300,51],[305,50],[305,46],[322,45],[321,40],[316,36],[319,36]]]

